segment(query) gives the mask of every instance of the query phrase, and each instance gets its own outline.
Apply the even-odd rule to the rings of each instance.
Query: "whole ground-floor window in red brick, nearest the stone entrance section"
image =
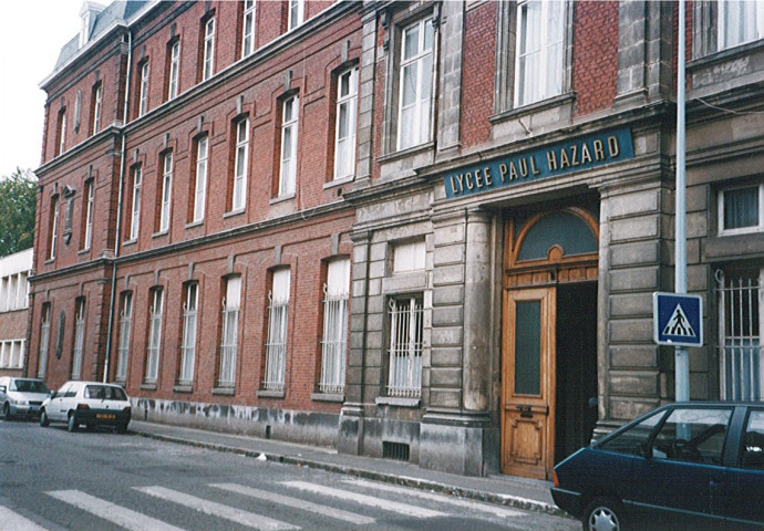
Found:
[[[345,351],[348,348],[348,298],[350,260],[329,262],[323,287],[323,339],[321,340],[321,393],[344,392]]]

